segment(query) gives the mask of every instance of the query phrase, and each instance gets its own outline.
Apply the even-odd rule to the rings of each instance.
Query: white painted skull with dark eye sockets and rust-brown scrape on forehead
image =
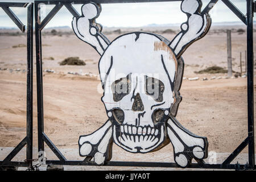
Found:
[[[168,143],[166,120],[174,103],[177,61],[167,44],[149,33],[125,34],[100,59],[102,102],[114,142],[129,152],[146,153]]]

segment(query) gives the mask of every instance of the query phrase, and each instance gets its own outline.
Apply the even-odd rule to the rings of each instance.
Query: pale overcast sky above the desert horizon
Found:
[[[0,0],[4,2],[3,0]],[[202,0],[203,8],[210,0]],[[246,14],[246,0],[231,0],[243,14]],[[9,0],[9,2],[24,2],[20,0]],[[26,2],[32,2],[28,0]],[[186,16],[180,11],[181,2],[152,2],[152,3],[123,3],[123,4],[102,4],[101,15],[97,19],[98,23],[106,27],[141,27],[148,24],[170,24],[182,23]],[[43,8],[43,15],[54,6],[47,5]],[[80,13],[81,5],[74,5]],[[202,9],[203,9],[202,8]],[[26,9],[11,8],[14,13],[26,24]],[[240,19],[232,13],[222,3],[221,0],[210,11],[213,23],[220,22],[238,22]],[[44,16],[43,16],[44,17]],[[71,27],[72,15],[65,7],[62,7],[53,19],[47,24],[47,27],[69,26]],[[10,21],[10,18],[0,8],[0,27],[15,27],[15,24]]]

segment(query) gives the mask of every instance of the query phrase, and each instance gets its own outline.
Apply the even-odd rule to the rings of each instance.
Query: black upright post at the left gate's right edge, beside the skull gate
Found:
[[[27,7],[27,160],[33,151],[33,3]]]

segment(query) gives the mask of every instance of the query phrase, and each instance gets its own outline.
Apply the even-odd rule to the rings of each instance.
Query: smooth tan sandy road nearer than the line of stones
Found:
[[[13,147],[26,133],[26,74],[0,72],[0,146]],[[82,76],[46,73],[45,133],[60,147],[77,148],[80,135],[92,133],[106,121],[100,81]],[[184,80],[178,121],[208,138],[209,151],[231,152],[246,137],[246,78],[208,81]],[[36,83],[34,78],[34,98]],[[34,133],[36,137],[36,100]],[[36,146],[36,141],[34,142]],[[162,150],[172,150],[171,146]]]

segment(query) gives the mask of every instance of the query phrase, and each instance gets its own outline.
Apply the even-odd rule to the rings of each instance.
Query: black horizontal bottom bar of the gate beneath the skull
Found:
[[[46,164],[64,165],[64,166],[97,166],[94,162],[84,162],[79,160],[46,160]],[[122,167],[170,167],[179,168],[176,163],[158,163],[158,162],[119,162],[110,161],[104,166],[122,166]],[[239,164],[239,169],[246,169],[246,165]],[[238,169],[238,164],[197,164],[192,163],[187,168],[207,168],[207,169]]]

